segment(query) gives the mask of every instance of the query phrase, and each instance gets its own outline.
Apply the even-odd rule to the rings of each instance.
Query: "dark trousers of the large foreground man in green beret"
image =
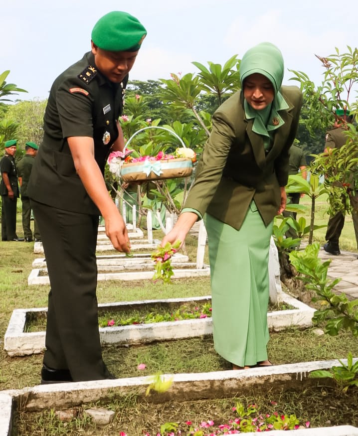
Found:
[[[50,279],[43,363],[69,369],[73,381],[102,380],[98,327],[97,215],[57,209],[31,200]]]

